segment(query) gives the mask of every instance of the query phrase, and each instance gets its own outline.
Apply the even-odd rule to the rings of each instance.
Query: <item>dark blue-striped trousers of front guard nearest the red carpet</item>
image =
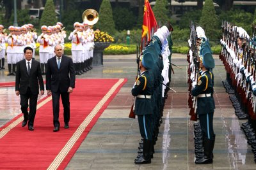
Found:
[[[138,115],[138,122],[140,127],[140,135],[143,139],[152,141],[154,124],[153,115]]]

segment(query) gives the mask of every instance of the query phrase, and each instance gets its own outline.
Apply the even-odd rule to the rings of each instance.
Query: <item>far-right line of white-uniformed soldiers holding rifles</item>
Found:
[[[256,22],[252,25],[252,38],[242,28],[225,21],[222,23],[223,37],[220,59],[227,71],[223,81],[226,92],[239,119],[248,119],[241,125],[251,145],[256,162]]]

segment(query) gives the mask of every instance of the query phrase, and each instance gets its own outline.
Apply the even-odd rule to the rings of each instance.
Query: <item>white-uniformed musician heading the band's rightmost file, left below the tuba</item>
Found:
[[[68,39],[72,41],[72,59],[76,69],[76,75],[81,75],[81,59],[83,53],[83,41],[82,32],[79,31],[81,24],[79,22],[74,23],[74,31],[70,32]],[[80,62],[80,63],[79,63]]]

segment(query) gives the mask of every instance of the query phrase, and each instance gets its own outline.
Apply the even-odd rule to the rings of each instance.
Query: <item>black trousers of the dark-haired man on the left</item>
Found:
[[[33,126],[36,116],[36,104],[38,94],[31,94],[28,87],[26,94],[20,94],[20,106],[23,113],[24,120],[28,120],[28,125]],[[28,99],[29,99],[29,114],[28,114]]]

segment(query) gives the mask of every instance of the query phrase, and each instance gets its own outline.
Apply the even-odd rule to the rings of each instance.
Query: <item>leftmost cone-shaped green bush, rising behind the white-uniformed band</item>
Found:
[[[52,0],[47,0],[44,11],[42,13],[42,18],[40,21],[40,25],[55,25],[57,22],[55,6]]]

